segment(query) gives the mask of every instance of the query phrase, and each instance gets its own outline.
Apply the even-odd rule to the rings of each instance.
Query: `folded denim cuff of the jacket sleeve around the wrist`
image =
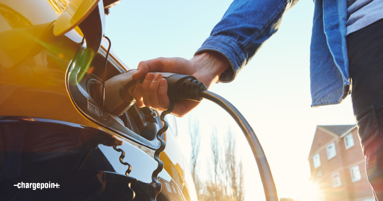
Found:
[[[239,45],[227,36],[210,36],[202,46],[194,53],[194,56],[202,51],[216,51],[224,55],[230,62],[232,69],[228,68],[218,78],[219,82],[232,82],[243,66],[246,64],[246,57]]]

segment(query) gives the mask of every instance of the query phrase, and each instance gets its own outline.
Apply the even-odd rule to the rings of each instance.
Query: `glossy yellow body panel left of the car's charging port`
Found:
[[[39,4],[41,1],[30,10],[45,13]],[[0,115],[98,128],[74,107],[66,89],[66,71],[80,44],[54,36],[53,22],[35,25],[13,7],[0,4],[0,18],[8,23],[0,32]]]

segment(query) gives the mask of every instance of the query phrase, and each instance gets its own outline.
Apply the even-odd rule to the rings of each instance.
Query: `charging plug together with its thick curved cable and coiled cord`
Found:
[[[133,80],[132,76],[136,70],[131,70],[113,77],[105,81],[105,106],[112,114],[119,116],[129,109],[135,102],[133,91],[138,83],[142,80]],[[154,72],[157,74],[157,72]],[[155,190],[151,194],[150,200],[155,201],[157,194],[161,190],[161,183],[157,180],[158,173],[163,169],[163,163],[159,160],[159,154],[165,149],[166,143],[161,139],[162,133],[168,129],[168,122],[165,120],[165,115],[169,114],[174,109],[174,102],[180,100],[193,100],[201,101],[203,98],[208,99],[222,108],[224,108],[237,122],[242,129],[247,142],[257,162],[258,170],[261,176],[263,190],[265,192],[266,201],[278,201],[277,188],[272,178],[271,170],[268,165],[266,156],[263,152],[262,146],[259,143],[254,130],[247,122],[245,117],[234,107],[229,101],[221,96],[207,91],[206,86],[198,82],[193,76],[186,76],[172,73],[161,73],[162,77],[168,82],[168,96],[170,99],[170,107],[168,110],[163,111],[160,119],[163,121],[164,126],[157,132],[157,140],[160,141],[160,147],[154,153],[154,160],[158,162],[157,168],[152,174],[152,181],[155,183]]]

